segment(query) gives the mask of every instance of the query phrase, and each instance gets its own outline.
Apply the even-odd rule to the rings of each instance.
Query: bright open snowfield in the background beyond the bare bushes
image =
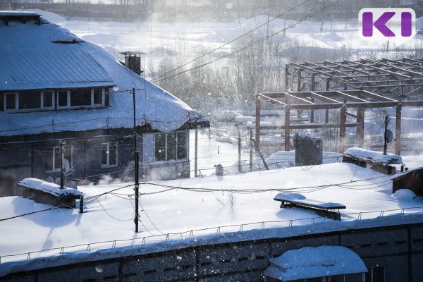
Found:
[[[202,22],[202,23],[160,23],[157,21],[137,21],[133,23],[121,23],[113,21],[90,21],[90,20],[68,20],[51,12],[38,11],[44,18],[57,23],[73,33],[95,44],[99,44],[116,57],[121,55],[119,51],[145,51],[147,61],[154,63],[180,58],[183,62],[189,61],[193,56],[207,53],[222,44],[249,32],[267,22],[267,16],[255,16],[250,19],[235,20],[231,23]],[[295,23],[293,20],[286,20],[286,26]],[[269,25],[264,25],[255,31],[257,38],[264,37],[269,31],[277,32],[285,26],[283,18],[272,20]],[[423,20],[417,20],[416,28],[423,26]],[[304,21],[286,32],[288,39],[299,41],[299,46],[321,47],[325,49],[336,49],[352,51],[358,56],[360,51],[372,51],[386,49],[386,42],[363,42],[359,38],[357,20],[335,20],[324,21],[318,24],[314,21]],[[268,30],[269,28],[269,30]],[[282,33],[276,37],[282,38]],[[276,38],[275,37],[275,38]],[[415,47],[420,44],[422,38],[416,37],[401,48]],[[236,43],[236,42],[235,42]],[[234,51],[235,43],[228,44],[215,52],[214,56],[221,56]],[[240,45],[242,46],[242,44]],[[390,44],[391,50],[396,46]],[[298,48],[295,46],[295,48]],[[222,53],[223,52],[223,53]],[[218,55],[220,54],[220,55]],[[121,58],[123,59],[123,57]],[[209,60],[207,59],[207,60]],[[225,60],[221,61],[226,65]],[[182,64],[182,63],[180,63]],[[219,65],[219,63],[217,63]],[[146,62],[146,66],[149,63]],[[148,73],[147,73],[148,75]]]

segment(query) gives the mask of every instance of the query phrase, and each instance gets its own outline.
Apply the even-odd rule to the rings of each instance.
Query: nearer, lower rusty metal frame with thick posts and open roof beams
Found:
[[[262,101],[285,110],[285,125],[261,125],[260,111]],[[400,154],[401,147],[401,113],[403,106],[423,106],[423,101],[403,101],[374,94],[366,90],[345,91],[310,91],[310,92],[271,92],[256,94],[256,149],[260,147],[261,130],[284,130],[285,150],[290,150],[290,130],[313,128],[339,128],[341,153],[345,150],[346,128],[357,128],[359,147],[364,145],[364,111],[369,108],[396,107],[396,145],[395,152]],[[329,110],[340,109],[340,123],[329,123]],[[352,114],[347,109],[357,109],[357,114]],[[314,114],[309,117],[309,123],[290,123],[291,110],[325,110],[324,123],[314,123]],[[347,116],[355,118],[355,122],[347,123]]]

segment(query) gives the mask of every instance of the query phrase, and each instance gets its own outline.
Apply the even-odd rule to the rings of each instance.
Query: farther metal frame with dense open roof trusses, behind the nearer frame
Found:
[[[423,59],[288,63],[285,90],[367,90],[394,99],[422,99]]]

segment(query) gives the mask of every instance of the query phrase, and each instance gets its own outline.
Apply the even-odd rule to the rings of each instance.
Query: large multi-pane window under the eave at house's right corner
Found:
[[[187,159],[187,133],[157,133],[154,140],[155,161]]]

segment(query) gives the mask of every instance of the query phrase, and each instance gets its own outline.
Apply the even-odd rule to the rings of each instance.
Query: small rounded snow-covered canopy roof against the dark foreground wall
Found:
[[[302,247],[270,259],[265,276],[281,281],[367,272],[360,257],[341,246]]]

